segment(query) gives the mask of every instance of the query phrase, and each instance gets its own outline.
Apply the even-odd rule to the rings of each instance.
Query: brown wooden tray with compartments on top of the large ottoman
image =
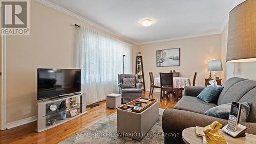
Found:
[[[142,97],[141,97],[142,98]],[[122,106],[120,106],[119,108],[122,109],[122,110],[127,110],[127,111],[132,111],[132,112],[136,112],[136,113],[141,113],[142,111],[144,111],[145,109],[147,109],[148,107],[150,107],[152,104],[154,104],[155,102],[157,102],[157,99],[148,99],[148,102],[147,103],[141,103],[141,102],[137,102],[139,99],[141,98],[138,98],[136,100],[133,100],[129,103],[126,103]],[[127,108],[126,106],[127,105],[134,105],[135,103],[138,103],[138,104],[141,104],[143,107],[140,107],[139,106],[134,106],[135,108],[132,109],[132,108]],[[137,109],[136,109],[137,108]]]

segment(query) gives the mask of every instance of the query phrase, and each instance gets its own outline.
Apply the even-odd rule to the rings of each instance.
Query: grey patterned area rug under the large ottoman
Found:
[[[164,143],[161,124],[163,110],[159,109],[158,121],[141,141],[118,136],[116,133],[117,113],[113,113],[60,143]]]

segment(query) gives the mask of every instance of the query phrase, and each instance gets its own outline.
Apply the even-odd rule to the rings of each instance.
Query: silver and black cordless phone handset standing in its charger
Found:
[[[238,102],[232,102],[231,110],[229,113],[227,129],[231,132],[235,132],[238,129],[238,122],[240,118],[241,104]]]

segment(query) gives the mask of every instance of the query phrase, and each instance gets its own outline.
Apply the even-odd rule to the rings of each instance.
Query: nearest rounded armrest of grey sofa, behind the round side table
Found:
[[[178,109],[166,109],[163,113],[162,117],[162,128],[163,132],[166,134],[178,134],[179,137],[165,137],[168,142],[165,143],[177,143],[182,141],[182,131],[189,127],[205,127],[210,125],[212,122],[218,121],[224,127],[228,120],[221,119],[217,117],[212,117],[208,115],[203,115],[195,112],[189,112],[185,110],[178,110]],[[249,134],[256,134],[256,123],[240,123],[247,127],[246,133]]]

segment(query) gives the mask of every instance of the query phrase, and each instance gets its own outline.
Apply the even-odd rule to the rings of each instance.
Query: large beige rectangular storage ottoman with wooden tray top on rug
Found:
[[[138,99],[127,103],[132,105]],[[140,141],[155,125],[159,118],[158,100],[152,99],[140,110],[132,110],[121,106],[117,109],[117,133]]]

